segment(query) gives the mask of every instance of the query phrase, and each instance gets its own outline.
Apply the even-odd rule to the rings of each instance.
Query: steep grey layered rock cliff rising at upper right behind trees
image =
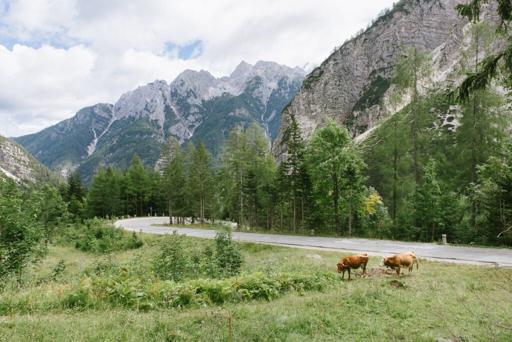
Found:
[[[286,158],[283,134],[294,115],[306,141],[328,118],[344,123],[353,137],[372,129],[387,112],[382,99],[390,87],[402,46],[435,50],[438,75],[451,67],[466,21],[456,0],[406,0],[379,17],[365,32],[347,41],[306,76],[302,88],[282,112],[272,154]]]

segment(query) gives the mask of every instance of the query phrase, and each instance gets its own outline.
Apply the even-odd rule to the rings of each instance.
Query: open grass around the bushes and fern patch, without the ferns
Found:
[[[163,236],[139,233],[144,246],[111,255],[129,261],[151,255]],[[209,240],[187,237],[190,243]],[[323,271],[332,281],[322,290],[295,289],[272,300],[205,303],[185,308],[138,310],[122,306],[64,308],[47,305],[69,284],[84,281],[94,254],[52,246],[41,274],[66,258],[63,283],[0,294],[0,341],[436,341],[512,339],[512,269],[440,263],[421,259],[419,270],[400,280],[370,257],[367,275],[341,280],[336,263],[348,253],[241,243],[243,273]],[[346,274],[347,276],[347,274]]]

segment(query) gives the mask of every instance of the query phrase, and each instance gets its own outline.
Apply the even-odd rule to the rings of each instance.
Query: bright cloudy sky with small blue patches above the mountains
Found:
[[[395,0],[396,1],[396,0]],[[0,135],[38,132],[186,69],[311,70],[390,0],[0,0]]]

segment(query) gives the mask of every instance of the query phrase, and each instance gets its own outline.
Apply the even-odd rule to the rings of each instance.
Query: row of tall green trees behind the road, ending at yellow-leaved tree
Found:
[[[216,159],[201,140],[183,148],[170,137],[156,169],[144,168],[137,155],[124,172],[100,166],[82,214],[151,212],[172,224],[184,218],[200,224],[222,219],[249,229],[382,235],[378,231],[385,229],[389,215],[376,191],[364,185],[366,165],[347,131],[330,121],[306,148],[291,117],[285,136],[289,158],[279,166],[257,123],[235,126]]]

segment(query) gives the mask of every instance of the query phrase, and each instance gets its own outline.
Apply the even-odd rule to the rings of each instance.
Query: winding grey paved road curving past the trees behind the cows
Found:
[[[164,222],[165,218],[139,218],[119,220],[116,222],[116,226],[134,231],[142,229],[146,233],[163,234],[167,232],[172,233],[173,230],[177,230],[179,234],[187,234],[191,237],[210,239],[215,237],[215,230],[152,226],[152,224],[162,224]],[[333,249],[355,253],[365,252],[369,255],[389,255],[414,250],[418,257],[429,260],[512,267],[512,249],[505,248],[458,247],[387,240],[303,237],[238,231],[233,231],[233,238],[239,241],[277,244],[297,248]]]

